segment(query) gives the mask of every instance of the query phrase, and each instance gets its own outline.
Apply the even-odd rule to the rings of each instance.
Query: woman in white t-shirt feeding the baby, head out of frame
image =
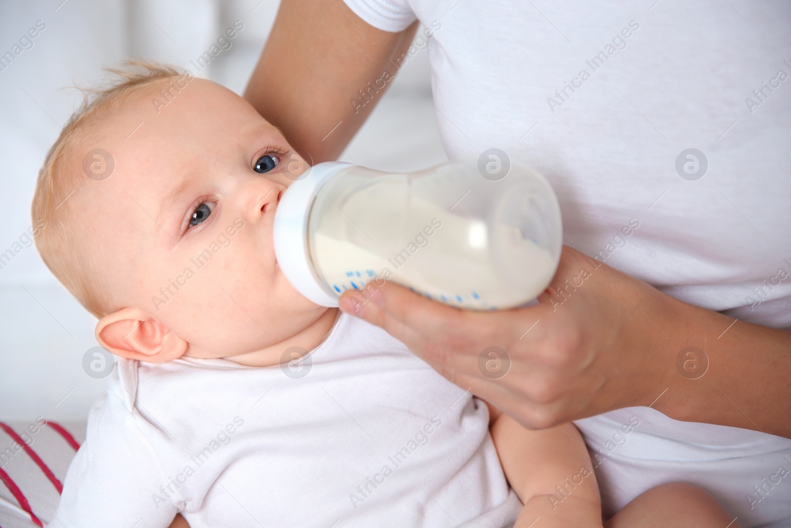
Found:
[[[385,284],[343,310],[526,427],[579,420],[605,515],[687,480],[789,526],[791,7],[283,0],[245,98],[335,159],[418,20],[448,156],[539,169],[567,246],[538,306]]]

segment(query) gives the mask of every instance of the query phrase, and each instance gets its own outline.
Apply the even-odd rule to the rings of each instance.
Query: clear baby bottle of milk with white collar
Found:
[[[321,306],[379,277],[473,310],[531,302],[558,267],[558,199],[520,165],[500,180],[481,174],[475,161],[412,173],[319,163],[280,199],[278,265]]]

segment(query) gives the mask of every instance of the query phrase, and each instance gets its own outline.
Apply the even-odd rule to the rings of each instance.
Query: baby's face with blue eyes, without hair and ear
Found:
[[[70,198],[108,264],[113,310],[144,310],[194,357],[281,343],[327,315],[293,289],[272,245],[282,192],[308,165],[228,89],[194,79],[171,98],[162,106],[152,90],[113,111],[85,151],[107,150],[114,173]]]

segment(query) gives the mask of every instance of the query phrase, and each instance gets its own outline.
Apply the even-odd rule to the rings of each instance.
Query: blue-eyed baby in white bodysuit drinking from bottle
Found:
[[[191,74],[113,71],[32,206],[41,256],[118,357],[49,526],[602,526],[572,424],[528,431],[288,283],[272,222],[307,165],[275,127]],[[607,526],[655,521],[731,518],[670,484]]]

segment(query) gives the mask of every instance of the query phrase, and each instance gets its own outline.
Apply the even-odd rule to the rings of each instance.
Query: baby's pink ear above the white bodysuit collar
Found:
[[[102,317],[96,337],[102,347],[115,355],[149,363],[180,358],[187,351],[187,341],[137,308],[122,308]]]

